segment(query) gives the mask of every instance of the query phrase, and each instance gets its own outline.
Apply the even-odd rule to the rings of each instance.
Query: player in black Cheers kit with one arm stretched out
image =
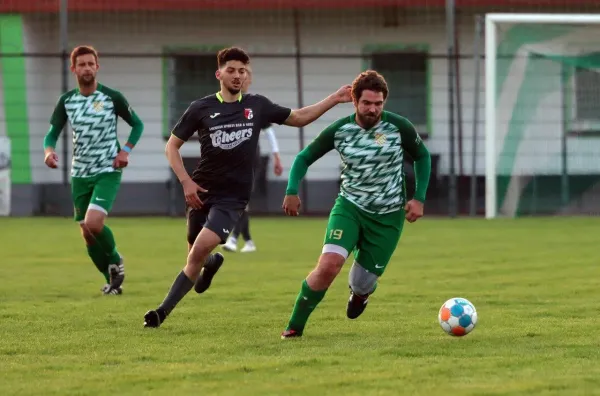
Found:
[[[211,253],[226,242],[250,199],[261,129],[270,123],[302,127],[352,100],[349,85],[299,110],[274,104],[262,95],[242,95],[249,64],[249,56],[240,48],[219,51],[216,77],[221,90],[192,102],[167,142],[169,164],[185,195],[189,253],[164,301],[144,315],[145,327],[159,327],[194,284],[198,293],[210,286],[223,263],[220,253]],[[179,149],[196,133],[202,155],[190,177]]]

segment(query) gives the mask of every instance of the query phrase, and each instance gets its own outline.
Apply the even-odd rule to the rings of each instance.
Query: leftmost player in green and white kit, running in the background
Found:
[[[125,279],[123,257],[104,222],[119,191],[122,168],[127,166],[144,124],[123,94],[96,81],[98,68],[94,48],[80,46],[71,53],[71,71],[77,77],[78,87],[58,100],[44,138],[44,162],[50,168],[58,167],[54,149],[61,130],[69,122],[73,129],[71,194],[75,221],[81,227],[88,255],[106,279],[102,292],[118,295]],[[123,147],[117,137],[117,117],[132,127]]]

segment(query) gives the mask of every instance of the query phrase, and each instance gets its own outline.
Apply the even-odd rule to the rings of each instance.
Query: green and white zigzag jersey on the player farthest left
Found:
[[[73,89],[60,97],[50,123],[60,130],[68,121],[73,129],[72,177],[115,171],[113,160],[120,150],[117,117],[129,125],[137,119],[123,94],[104,85],[98,84],[88,96]]]

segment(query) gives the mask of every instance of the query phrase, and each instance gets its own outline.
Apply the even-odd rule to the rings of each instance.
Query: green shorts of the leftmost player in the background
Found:
[[[71,196],[75,209],[75,221],[82,221],[88,209],[108,214],[112,209],[122,172],[106,172],[91,177],[72,177]]]

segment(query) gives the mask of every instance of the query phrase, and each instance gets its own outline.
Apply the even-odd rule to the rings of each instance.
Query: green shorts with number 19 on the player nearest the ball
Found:
[[[323,252],[345,257],[353,252],[361,267],[381,276],[398,246],[404,219],[403,209],[372,214],[339,196],[329,215]]]

